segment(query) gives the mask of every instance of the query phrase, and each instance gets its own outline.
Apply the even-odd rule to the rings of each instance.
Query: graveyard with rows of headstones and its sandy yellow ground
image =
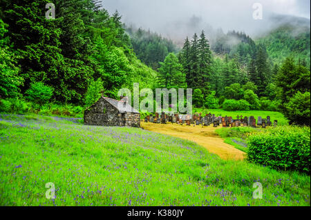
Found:
[[[257,120],[257,121],[256,121]],[[202,113],[196,113],[193,115],[182,114],[151,114],[144,118],[141,122],[141,127],[145,130],[158,132],[161,134],[168,134],[173,137],[180,137],[189,141],[194,141],[200,146],[205,147],[209,152],[218,154],[222,159],[245,159],[245,150],[241,146],[245,147],[244,143],[239,146],[238,141],[234,139],[232,141],[222,139],[216,130],[220,128],[256,128],[258,130],[268,127],[278,126],[278,120],[271,121],[271,117],[267,115],[258,117],[254,116],[243,117],[237,115],[236,119],[233,117],[216,117],[215,114],[209,112],[204,117]]]

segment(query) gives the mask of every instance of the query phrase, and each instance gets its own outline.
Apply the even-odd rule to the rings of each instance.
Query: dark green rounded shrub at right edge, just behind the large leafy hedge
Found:
[[[290,123],[310,126],[310,92],[297,92],[284,107]]]

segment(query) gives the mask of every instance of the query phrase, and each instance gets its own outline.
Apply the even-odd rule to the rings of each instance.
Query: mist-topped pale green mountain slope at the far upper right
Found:
[[[274,28],[258,37],[256,43],[263,43],[276,63],[292,55],[310,66],[310,20],[281,15],[273,19]]]

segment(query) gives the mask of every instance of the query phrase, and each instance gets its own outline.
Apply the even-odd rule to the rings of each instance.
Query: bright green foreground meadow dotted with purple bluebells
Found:
[[[306,174],[80,119],[0,115],[0,172],[0,206],[310,206]],[[252,199],[257,181],[263,199]],[[56,199],[46,199],[49,182]]]

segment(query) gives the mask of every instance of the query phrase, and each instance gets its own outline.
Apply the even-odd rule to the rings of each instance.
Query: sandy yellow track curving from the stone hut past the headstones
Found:
[[[180,137],[182,139],[187,139],[189,141],[194,141],[200,146],[205,147],[209,152],[218,154],[222,159],[234,159],[243,160],[245,158],[245,152],[234,148],[233,146],[224,143],[213,126],[203,127],[202,126],[180,126],[176,123],[144,123],[141,122],[140,126],[145,130],[150,130],[152,132],[158,132],[161,134],[168,134],[173,137]],[[221,127],[221,126],[220,126]]]

